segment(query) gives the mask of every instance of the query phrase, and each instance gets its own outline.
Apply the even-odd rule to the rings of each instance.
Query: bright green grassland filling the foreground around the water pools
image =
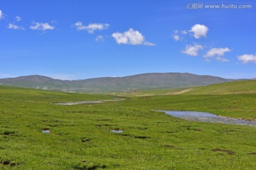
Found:
[[[256,128],[153,111],[207,111],[256,120],[255,82],[175,95],[147,91],[154,95],[73,106],[53,103],[114,96],[0,86],[0,169],[255,169]]]

